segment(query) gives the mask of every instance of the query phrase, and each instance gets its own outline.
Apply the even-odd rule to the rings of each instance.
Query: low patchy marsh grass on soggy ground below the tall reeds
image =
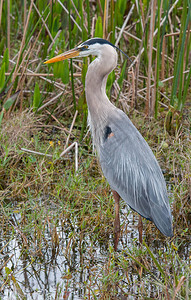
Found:
[[[154,225],[144,221],[145,243],[140,248],[137,216],[127,213],[121,202],[122,235],[115,253],[113,198],[89,146],[89,136],[80,145],[80,166],[75,174],[73,153],[58,160],[56,153],[64,146],[59,143],[60,130],[53,130],[57,122],[51,120],[44,129],[46,119],[48,116],[25,111],[6,122],[7,129],[2,124],[2,157],[9,158],[1,169],[2,295],[10,290],[10,297],[32,297],[30,276],[38,282],[39,276],[49,278],[56,272],[57,288],[47,288],[42,281],[35,295],[44,290],[46,297],[56,299],[67,293],[74,299],[189,299],[188,120],[172,137],[164,135],[160,122],[146,123],[140,113],[131,113],[165,172],[175,237],[165,241]],[[72,139],[79,135],[74,128]],[[10,141],[12,148],[6,155]],[[52,153],[53,158],[23,153],[23,146]],[[7,260],[6,253],[14,248],[19,256]],[[28,278],[27,285],[22,274]],[[60,296],[55,296],[58,292]]]

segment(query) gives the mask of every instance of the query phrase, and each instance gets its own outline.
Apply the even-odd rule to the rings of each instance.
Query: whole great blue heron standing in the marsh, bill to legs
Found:
[[[166,184],[158,162],[140,132],[105,92],[107,77],[117,65],[116,48],[104,39],[92,38],[45,62],[97,56],[88,67],[85,92],[93,143],[115,199],[115,250],[120,236],[120,197],[140,215],[140,242],[141,216],[152,221],[164,235],[173,236]]]

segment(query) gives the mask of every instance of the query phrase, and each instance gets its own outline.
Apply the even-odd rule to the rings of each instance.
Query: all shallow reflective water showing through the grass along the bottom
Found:
[[[17,212],[12,215],[14,224],[19,223],[21,216]],[[128,249],[130,253],[134,251],[135,244],[138,247],[138,217],[132,212],[129,213],[126,206],[121,210],[122,238],[119,243],[118,253],[122,254]],[[18,230],[8,234],[7,226],[1,228],[0,236],[0,261],[1,266],[6,263],[6,267],[13,271],[10,277],[10,284],[3,284],[1,288],[1,299],[18,299],[17,295],[23,295],[26,299],[93,299],[92,291],[99,295],[99,284],[103,278],[108,260],[113,252],[109,248],[113,245],[113,234],[109,235],[104,242],[93,242],[91,236],[86,234],[71,235],[74,232],[75,224],[70,228],[60,221],[56,226],[59,243],[57,247],[52,247],[52,234],[50,227],[46,225],[44,240],[41,242],[42,248],[38,249],[36,240],[30,240],[25,250],[23,240]],[[75,229],[76,232],[78,228]],[[155,229],[154,229],[155,230]],[[10,231],[11,232],[11,231]],[[154,253],[159,248],[167,251],[164,241],[150,238],[149,244]],[[28,242],[26,242],[28,243]],[[133,245],[134,243],[134,245]],[[165,249],[166,248],[166,249]],[[189,255],[189,245],[183,248],[183,259]],[[129,276],[131,283],[135,285],[129,287],[124,284],[123,292],[132,291],[136,294],[136,282],[138,275],[132,271]],[[156,276],[158,275],[156,270]],[[119,272],[120,274],[120,272]],[[2,268],[2,275],[5,278],[5,268]],[[148,295],[152,296],[152,287]],[[125,299],[135,299],[129,296]]]

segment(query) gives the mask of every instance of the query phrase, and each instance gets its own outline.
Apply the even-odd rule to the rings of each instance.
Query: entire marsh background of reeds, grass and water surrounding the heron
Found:
[[[190,2],[23,2],[0,1],[0,298],[189,299]],[[172,240],[144,220],[140,247],[121,201],[114,252],[113,198],[86,128],[91,58],[43,65],[95,35],[133,61],[119,55],[107,94],[161,165]],[[76,141],[77,173],[74,150],[60,157]]]

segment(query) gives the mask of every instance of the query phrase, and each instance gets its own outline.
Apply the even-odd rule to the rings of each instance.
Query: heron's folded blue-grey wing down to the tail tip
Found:
[[[103,139],[100,164],[112,189],[158,229],[172,236],[166,184],[154,154],[128,117],[118,110],[107,127],[113,135]]]

